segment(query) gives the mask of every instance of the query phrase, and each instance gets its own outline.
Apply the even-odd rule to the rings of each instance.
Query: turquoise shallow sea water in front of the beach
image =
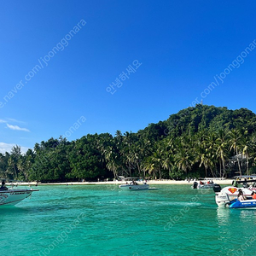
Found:
[[[31,199],[0,208],[1,253],[255,255],[256,210],[218,209],[212,190],[154,187],[38,187]]]

